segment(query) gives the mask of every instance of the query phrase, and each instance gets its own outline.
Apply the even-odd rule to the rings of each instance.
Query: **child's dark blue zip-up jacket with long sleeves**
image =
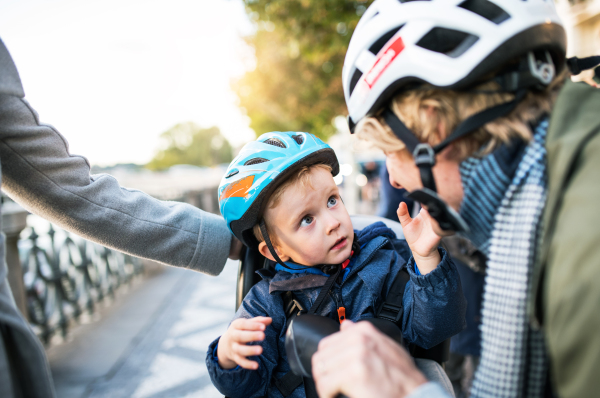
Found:
[[[334,284],[333,294],[322,304],[320,315],[337,320],[334,299],[341,297],[347,319],[356,322],[375,317],[394,277],[402,267],[407,267],[410,282],[403,299],[404,338],[409,343],[430,348],[464,328],[466,301],[456,267],[445,250],[440,249],[442,261],[435,270],[417,275],[408,244],[395,239],[396,235],[385,224],[377,222],[357,234],[362,249],[354,256],[352,268],[341,285]],[[410,259],[408,263],[406,259]],[[326,280],[327,277],[312,273],[279,271],[273,278],[252,287],[234,319],[267,316],[273,322],[267,326],[265,340],[260,343],[263,353],[250,357],[258,362],[258,370],[222,369],[215,359],[219,339],[210,344],[206,364],[213,384],[222,394],[230,398],[283,397],[273,384],[273,377],[279,379],[290,371],[285,353],[286,318],[281,294],[293,291],[308,310]],[[288,397],[305,396],[304,386],[300,385]]]

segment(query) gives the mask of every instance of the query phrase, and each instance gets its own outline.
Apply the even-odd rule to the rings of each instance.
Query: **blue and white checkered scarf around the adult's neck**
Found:
[[[526,308],[546,201],[548,119],[525,145],[503,146],[461,164],[466,236],[488,257],[481,325],[481,363],[472,397],[541,397],[547,359]]]

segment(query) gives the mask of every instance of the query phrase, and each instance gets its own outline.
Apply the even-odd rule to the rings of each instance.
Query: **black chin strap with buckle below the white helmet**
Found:
[[[458,212],[450,207],[437,193],[432,172],[435,165],[435,156],[452,142],[511,112],[525,98],[526,93],[525,89],[519,90],[512,101],[484,109],[465,119],[445,140],[433,147],[427,143],[421,143],[415,134],[389,108],[383,111],[382,116],[385,122],[396,137],[406,145],[406,149],[412,153],[421,175],[423,188],[410,192],[406,197],[426,206],[427,211],[438,222],[442,230],[466,233],[469,232],[469,226]]]

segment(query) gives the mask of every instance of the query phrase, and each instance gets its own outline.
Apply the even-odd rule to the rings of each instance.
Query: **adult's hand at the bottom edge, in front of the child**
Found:
[[[408,352],[369,322],[344,321],[321,340],[312,368],[321,398],[400,398],[427,383]]]

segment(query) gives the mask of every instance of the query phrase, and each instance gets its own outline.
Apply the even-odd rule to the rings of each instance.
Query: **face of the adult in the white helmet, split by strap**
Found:
[[[463,199],[462,182],[460,179],[459,163],[448,156],[448,150],[442,151],[436,157],[433,166],[433,176],[438,195],[454,210],[458,211]],[[390,174],[390,184],[394,188],[404,188],[408,192],[423,187],[419,168],[406,151],[386,152],[386,165]],[[451,235],[443,231],[437,221],[433,220],[433,230],[440,236]]]

